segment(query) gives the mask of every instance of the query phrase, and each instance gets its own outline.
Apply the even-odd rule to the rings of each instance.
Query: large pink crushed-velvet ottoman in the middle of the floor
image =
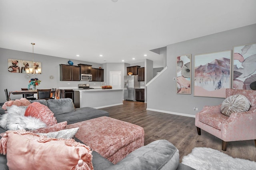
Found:
[[[138,125],[97,117],[67,125],[67,129],[79,127],[76,137],[104,158],[116,164],[135,149],[144,146],[144,129]]]

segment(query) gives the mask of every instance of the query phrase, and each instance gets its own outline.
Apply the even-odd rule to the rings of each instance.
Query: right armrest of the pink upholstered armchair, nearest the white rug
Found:
[[[256,110],[231,113],[228,120],[221,123],[222,140],[242,141],[256,139]]]

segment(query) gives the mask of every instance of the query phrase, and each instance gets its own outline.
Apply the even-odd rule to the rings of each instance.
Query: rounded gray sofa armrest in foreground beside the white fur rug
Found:
[[[167,140],[158,140],[134,150],[104,170],[176,170],[179,161],[179,150]]]

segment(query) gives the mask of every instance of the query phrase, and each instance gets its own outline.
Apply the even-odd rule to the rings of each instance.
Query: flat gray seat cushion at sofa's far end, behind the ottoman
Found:
[[[101,116],[109,116],[109,113],[104,110],[94,109],[92,107],[76,108],[74,112],[55,115],[57,122],[67,121],[68,124],[77,123],[89,119],[94,119]]]

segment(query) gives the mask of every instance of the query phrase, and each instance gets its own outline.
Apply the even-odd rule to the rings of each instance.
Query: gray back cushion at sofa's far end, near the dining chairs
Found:
[[[75,111],[73,100],[70,98],[47,100],[47,106],[54,116]]]

